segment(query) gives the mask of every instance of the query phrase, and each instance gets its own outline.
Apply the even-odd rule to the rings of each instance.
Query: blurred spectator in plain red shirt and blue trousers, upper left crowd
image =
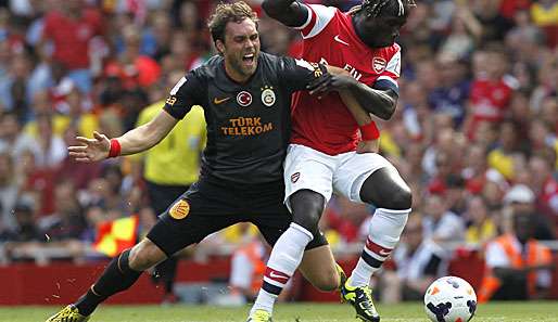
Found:
[[[91,90],[89,41],[103,34],[101,14],[85,7],[83,0],[60,2],[45,17],[43,40],[53,44],[52,59],[69,70],[68,76],[83,92]]]

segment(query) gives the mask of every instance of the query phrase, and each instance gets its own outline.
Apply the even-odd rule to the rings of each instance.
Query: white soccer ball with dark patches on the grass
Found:
[[[440,278],[424,294],[424,310],[433,322],[467,322],[477,310],[477,294],[464,279]]]

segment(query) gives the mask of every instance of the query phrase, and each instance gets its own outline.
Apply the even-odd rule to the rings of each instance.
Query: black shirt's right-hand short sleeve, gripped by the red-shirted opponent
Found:
[[[305,60],[281,57],[279,64],[279,78],[292,91],[306,89],[310,81],[328,73],[325,65]]]

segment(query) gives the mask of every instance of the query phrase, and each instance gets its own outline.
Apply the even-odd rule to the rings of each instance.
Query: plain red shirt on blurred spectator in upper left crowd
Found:
[[[102,34],[98,11],[88,9],[79,20],[53,11],[45,17],[43,35],[54,44],[53,57],[68,69],[89,67],[89,40]]]

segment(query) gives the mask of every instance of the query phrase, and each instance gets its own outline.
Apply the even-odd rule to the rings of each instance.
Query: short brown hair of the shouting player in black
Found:
[[[234,3],[219,3],[207,22],[213,41],[225,41],[225,28],[228,23],[240,23],[252,20],[257,26],[257,14],[244,1]]]

